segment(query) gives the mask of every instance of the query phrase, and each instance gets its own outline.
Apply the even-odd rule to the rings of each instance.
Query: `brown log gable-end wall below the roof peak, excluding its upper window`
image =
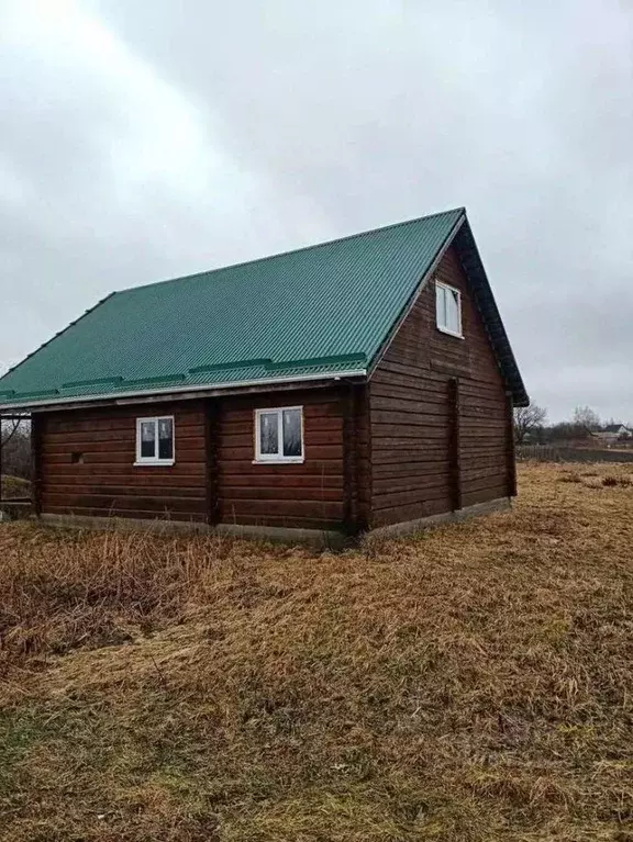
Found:
[[[454,509],[456,501],[469,506],[513,491],[506,386],[453,248],[435,277],[462,292],[465,338],[437,329],[435,285],[430,282],[374,372],[373,526],[441,514]]]

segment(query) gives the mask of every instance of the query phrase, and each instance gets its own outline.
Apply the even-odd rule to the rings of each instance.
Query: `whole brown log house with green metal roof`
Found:
[[[528,400],[463,209],[113,293],[0,379],[41,517],[287,538],[507,502]]]

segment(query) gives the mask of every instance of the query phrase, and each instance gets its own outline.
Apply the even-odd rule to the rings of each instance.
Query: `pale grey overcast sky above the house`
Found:
[[[633,422],[630,0],[0,0],[0,369],[112,290],[457,205],[533,400]]]

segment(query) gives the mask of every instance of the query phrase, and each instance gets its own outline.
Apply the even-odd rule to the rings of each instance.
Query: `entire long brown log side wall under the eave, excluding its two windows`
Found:
[[[306,462],[254,464],[255,409],[298,405]],[[367,517],[368,510],[364,405],[364,386],[352,402],[337,386],[41,414],[42,509],[316,529],[342,528],[346,519],[349,528],[357,512]],[[346,469],[345,407],[358,415],[360,450]],[[159,415],[175,416],[176,463],[135,467],[136,418]],[[82,453],[81,463],[71,462],[74,452]],[[354,484],[347,508],[346,476]]]

